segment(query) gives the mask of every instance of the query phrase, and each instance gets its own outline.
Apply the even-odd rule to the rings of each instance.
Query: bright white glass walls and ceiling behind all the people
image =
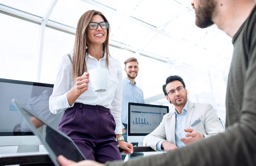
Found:
[[[110,55],[139,61],[136,82],[147,104],[168,105],[162,84],[180,75],[193,102],[211,103],[225,120],[233,46],[216,25],[195,26],[191,0],[0,0],[0,77],[54,84],[72,51],[80,16],[101,11],[110,23]],[[123,73],[124,77],[126,73]]]

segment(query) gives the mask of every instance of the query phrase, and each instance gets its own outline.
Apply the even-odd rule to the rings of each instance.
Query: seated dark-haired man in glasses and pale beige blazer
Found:
[[[168,77],[163,91],[175,111],[164,115],[159,126],[146,135],[144,146],[171,151],[224,131],[211,104],[193,103],[187,99],[188,91],[180,76]]]

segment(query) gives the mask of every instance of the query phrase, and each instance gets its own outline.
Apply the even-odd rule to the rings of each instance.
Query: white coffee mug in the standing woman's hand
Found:
[[[95,92],[104,92],[108,86],[108,69],[95,68],[89,71],[90,86]]]

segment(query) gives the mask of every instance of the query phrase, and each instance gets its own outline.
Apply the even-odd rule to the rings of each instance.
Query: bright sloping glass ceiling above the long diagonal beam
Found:
[[[191,0],[1,0],[8,7],[36,18],[49,19],[48,26],[75,33],[80,16],[87,10],[101,11],[111,27],[110,44],[121,49],[175,65],[229,66],[231,38],[216,26],[195,26]],[[7,8],[7,10],[9,10]],[[24,14],[24,17],[28,18]],[[186,48],[186,49],[185,49]],[[193,55],[193,56],[192,56]],[[198,62],[198,64],[197,64]],[[222,65],[219,64],[221,62]],[[200,66],[200,65],[199,65]],[[204,68],[204,66],[202,66]]]

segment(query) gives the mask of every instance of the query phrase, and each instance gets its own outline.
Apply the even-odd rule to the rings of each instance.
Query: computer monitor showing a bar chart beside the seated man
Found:
[[[144,137],[159,126],[168,112],[168,106],[129,102],[127,141],[139,142],[139,146],[143,146]]]

